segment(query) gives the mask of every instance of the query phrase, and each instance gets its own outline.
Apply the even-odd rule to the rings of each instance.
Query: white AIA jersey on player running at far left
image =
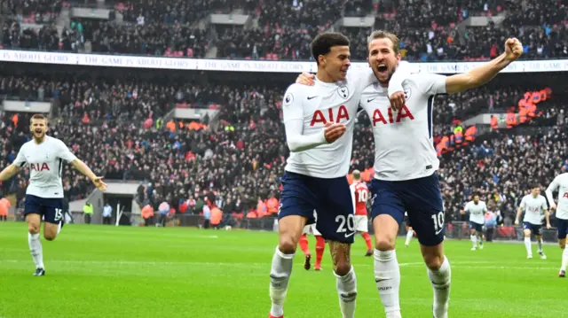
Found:
[[[57,138],[45,136],[43,143],[35,140],[24,143],[12,162],[18,167],[28,166],[29,185],[26,194],[40,198],[63,198],[61,171],[63,160],[71,162],[76,157]]]

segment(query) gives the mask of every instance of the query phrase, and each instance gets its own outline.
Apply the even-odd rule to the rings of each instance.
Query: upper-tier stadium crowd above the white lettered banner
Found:
[[[12,1],[28,15],[57,14],[61,2]],[[27,4],[36,4],[35,6]],[[67,3],[66,3],[67,4]],[[447,1],[237,1],[201,0],[116,2],[125,23],[74,19],[61,35],[51,25],[40,30],[21,29],[21,16],[4,21],[4,48],[85,50],[106,53],[203,57],[217,46],[219,58],[310,59],[313,35],[327,30],[342,14],[376,16],[374,28],[384,28],[402,40],[400,51],[408,60],[477,60],[496,57],[506,37],[525,44],[525,58],[567,58],[568,33],[565,1],[530,0],[515,5],[504,0]],[[24,10],[25,9],[25,10]],[[242,9],[257,18],[258,27],[220,27],[206,32],[194,22],[212,12]],[[46,11],[49,10],[49,11]],[[32,13],[34,14],[32,14]],[[457,24],[471,16],[496,16],[501,23],[486,27]],[[354,58],[366,58],[371,27],[342,27],[350,35]],[[483,43],[480,45],[480,43]]]

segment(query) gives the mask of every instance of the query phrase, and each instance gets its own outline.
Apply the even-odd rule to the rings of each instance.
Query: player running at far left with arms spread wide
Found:
[[[63,225],[63,184],[61,171],[63,160],[70,162],[75,169],[86,175],[101,191],[106,190],[106,183],[92,173],[85,163],[77,159],[67,145],[57,138],[47,136],[48,119],[43,114],[35,114],[29,120],[29,128],[33,139],[24,143],[12,164],[0,173],[0,181],[4,182],[12,175],[20,172],[28,165],[30,176],[26,190],[24,214],[28,221],[28,244],[36,272],[34,275],[45,275],[43,265],[43,249],[39,232],[43,217],[43,237],[52,241],[59,234]]]

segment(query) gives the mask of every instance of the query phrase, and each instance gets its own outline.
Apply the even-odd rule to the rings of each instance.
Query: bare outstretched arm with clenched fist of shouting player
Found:
[[[488,81],[512,62],[516,61],[523,53],[523,45],[517,38],[508,39],[505,42],[505,52],[483,66],[477,66],[468,73],[455,74],[446,78],[446,93],[461,93],[468,89],[475,89]]]

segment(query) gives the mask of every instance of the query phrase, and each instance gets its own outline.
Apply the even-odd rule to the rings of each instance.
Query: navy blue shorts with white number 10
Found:
[[[371,188],[373,218],[388,214],[400,225],[406,211],[420,244],[435,246],[444,241],[444,203],[438,173],[405,181],[373,179]]]

